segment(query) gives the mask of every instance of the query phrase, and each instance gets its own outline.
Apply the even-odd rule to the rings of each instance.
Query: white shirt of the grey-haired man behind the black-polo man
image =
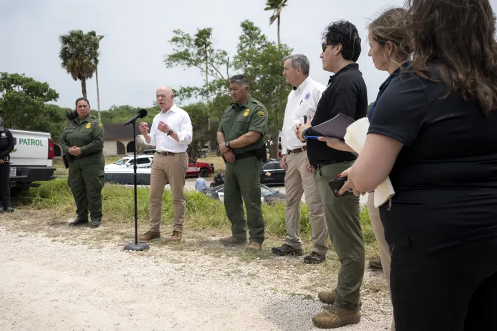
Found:
[[[324,85],[309,76],[300,86],[291,90],[286,103],[281,133],[282,155],[287,154],[288,150],[295,150],[306,145],[295,136],[293,129],[298,123],[304,124],[304,116],[309,115],[311,119],[314,117],[325,89]]]

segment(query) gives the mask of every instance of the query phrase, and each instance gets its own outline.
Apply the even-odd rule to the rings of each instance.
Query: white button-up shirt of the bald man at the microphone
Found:
[[[179,143],[166,133],[157,129],[159,121],[176,131]],[[190,116],[182,108],[173,105],[167,112],[159,112],[155,115],[152,128],[150,128],[150,145],[155,146],[157,152],[182,153],[186,152],[193,137],[193,128]]]

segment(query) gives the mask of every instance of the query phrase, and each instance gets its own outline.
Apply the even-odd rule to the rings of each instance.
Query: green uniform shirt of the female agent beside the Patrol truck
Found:
[[[97,153],[104,149],[104,126],[91,114],[86,119],[68,121],[61,134],[61,146],[64,154],[72,146],[81,150],[81,155]]]

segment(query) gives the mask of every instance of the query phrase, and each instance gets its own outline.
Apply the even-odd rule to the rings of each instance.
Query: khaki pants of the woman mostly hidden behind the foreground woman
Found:
[[[373,232],[375,233],[376,242],[378,243],[378,250],[380,251],[380,259],[383,267],[383,274],[387,279],[387,285],[390,289],[390,248],[387,241],[384,239],[383,223],[380,219],[380,210],[374,206],[374,192],[368,194],[368,214]],[[395,321],[392,321],[391,330],[395,331]]]

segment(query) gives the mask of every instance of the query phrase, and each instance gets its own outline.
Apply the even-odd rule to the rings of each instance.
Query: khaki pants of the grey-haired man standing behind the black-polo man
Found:
[[[328,227],[324,219],[321,196],[316,188],[313,172],[306,170],[307,151],[297,154],[289,153],[286,157],[288,170],[285,174],[285,244],[302,249],[300,240],[300,202],[302,194],[309,207],[309,223],[312,228],[313,252],[326,255],[328,252]]]

